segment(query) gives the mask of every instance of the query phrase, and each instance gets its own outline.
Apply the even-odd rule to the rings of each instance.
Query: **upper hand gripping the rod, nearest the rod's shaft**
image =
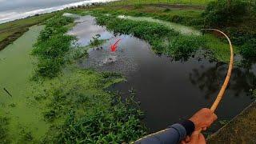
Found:
[[[215,120],[217,115],[210,109],[203,108],[195,113],[190,121],[194,122],[194,130],[206,130]]]

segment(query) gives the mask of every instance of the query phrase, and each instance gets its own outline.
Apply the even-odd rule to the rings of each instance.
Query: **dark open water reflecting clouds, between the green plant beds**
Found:
[[[129,35],[114,35],[102,26],[96,26],[93,17],[82,17],[70,31],[78,36],[78,43],[88,45],[95,34],[109,39],[102,48],[90,49],[89,58],[81,59],[79,66],[100,71],[118,71],[126,75],[126,82],[112,87],[123,96],[135,90],[141,108],[146,112],[146,126],[150,131],[161,130],[174,122],[189,118],[196,110],[209,107],[226,76],[227,65],[209,62],[198,53],[186,61],[174,61],[150,50],[150,45]],[[78,20],[79,21],[79,20]],[[118,50],[110,52],[110,44],[118,43]],[[246,93],[254,86],[256,66],[234,67],[230,86],[217,114],[219,120],[234,118],[253,100]],[[217,128],[214,128],[217,130]]]

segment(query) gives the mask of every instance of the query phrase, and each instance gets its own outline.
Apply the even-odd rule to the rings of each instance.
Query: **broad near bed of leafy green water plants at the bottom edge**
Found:
[[[54,78],[51,87],[42,91],[50,98],[45,119],[52,123],[42,142],[119,143],[146,134],[140,121],[142,111],[133,97],[122,101],[119,95],[103,90],[110,83],[122,81],[120,74],[71,71],[62,76],[61,82]]]

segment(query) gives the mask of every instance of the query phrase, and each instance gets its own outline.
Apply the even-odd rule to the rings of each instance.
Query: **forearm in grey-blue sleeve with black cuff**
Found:
[[[144,138],[138,139],[136,144],[158,144],[158,143],[170,143],[175,144],[182,139],[186,138],[186,135],[191,134],[194,131],[194,123],[190,121],[184,121],[182,123],[176,123],[169,126],[165,130],[158,131],[157,133],[147,135]]]

